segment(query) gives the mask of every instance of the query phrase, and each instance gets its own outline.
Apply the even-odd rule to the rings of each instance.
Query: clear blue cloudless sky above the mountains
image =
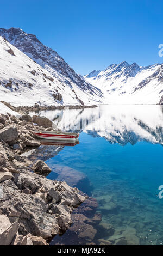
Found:
[[[162,63],[160,0],[8,0],[1,27],[20,27],[53,48],[78,73],[126,60]]]

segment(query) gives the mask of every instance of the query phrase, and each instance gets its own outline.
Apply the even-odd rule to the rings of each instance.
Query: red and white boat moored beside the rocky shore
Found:
[[[34,132],[38,138],[42,139],[53,139],[59,141],[76,141],[79,138],[79,133],[73,132],[60,132],[60,131],[45,131],[45,132]]]

